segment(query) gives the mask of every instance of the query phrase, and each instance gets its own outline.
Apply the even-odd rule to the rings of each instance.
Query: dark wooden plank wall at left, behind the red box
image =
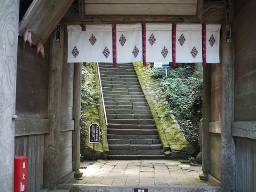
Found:
[[[26,45],[24,48],[23,39],[18,38],[16,115],[21,119],[31,119],[32,121],[27,122],[28,125],[33,119],[48,118],[49,41],[44,47],[45,58],[36,53],[35,47]],[[24,122],[17,120],[16,128],[29,127],[23,125]],[[15,155],[28,156],[28,192],[37,192],[43,188],[44,134],[38,133],[47,130],[48,128],[42,127],[47,125],[37,127],[36,124],[31,124],[29,132],[16,132],[16,135],[25,134],[15,138]]]

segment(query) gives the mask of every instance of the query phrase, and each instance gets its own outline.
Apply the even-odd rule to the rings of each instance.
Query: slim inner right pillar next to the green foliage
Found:
[[[210,173],[210,133],[209,122],[211,112],[211,70],[210,65],[204,67],[203,73],[203,128],[202,128],[202,171],[200,178],[207,180]]]

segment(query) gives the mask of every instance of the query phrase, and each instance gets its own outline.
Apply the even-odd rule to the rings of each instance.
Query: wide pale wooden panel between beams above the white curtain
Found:
[[[181,15],[195,16],[196,4],[168,5],[156,4],[87,4],[85,16],[87,15]]]

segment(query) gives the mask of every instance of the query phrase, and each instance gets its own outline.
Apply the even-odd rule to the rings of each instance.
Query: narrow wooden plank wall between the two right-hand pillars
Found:
[[[209,67],[209,66],[208,66]],[[211,64],[210,174],[221,180],[222,64]]]

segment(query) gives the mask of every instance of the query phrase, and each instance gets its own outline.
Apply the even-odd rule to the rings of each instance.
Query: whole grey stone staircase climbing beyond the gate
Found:
[[[132,64],[99,64],[109,159],[164,159],[151,110]]]

